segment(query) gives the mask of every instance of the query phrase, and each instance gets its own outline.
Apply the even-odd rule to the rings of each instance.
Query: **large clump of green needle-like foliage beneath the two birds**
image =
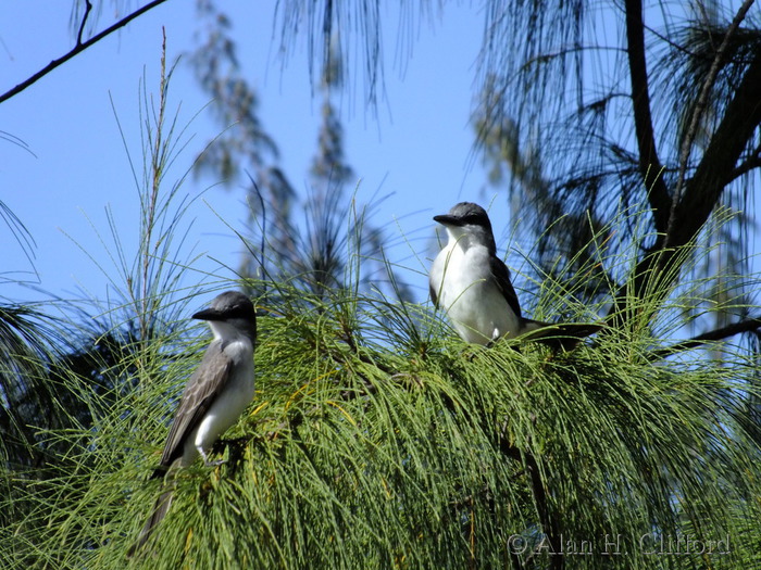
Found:
[[[87,395],[108,402],[93,425],[50,433],[77,445],[24,483],[28,515],[2,530],[3,567],[761,562],[758,447],[740,405],[751,363],[653,363],[612,333],[570,353],[483,349],[422,307],[285,286],[259,307],[254,402],[217,445],[223,465],[178,474],[147,549],[125,558],[198,360],[155,343],[129,353],[136,390]]]

